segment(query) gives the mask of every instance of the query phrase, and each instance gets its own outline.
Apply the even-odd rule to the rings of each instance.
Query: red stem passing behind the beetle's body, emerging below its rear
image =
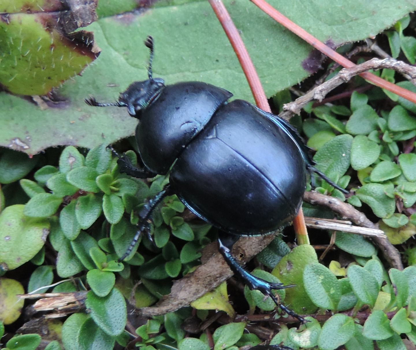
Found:
[[[227,9],[225,8],[221,0],[209,0],[210,5],[212,6],[215,15],[220,21],[221,25],[224,28],[225,34],[230,40],[231,45],[237,55],[237,58],[240,62],[241,67],[245,77],[247,78],[248,85],[250,85],[251,92],[253,94],[256,105],[265,110],[266,112],[271,112],[269,103],[267,102],[266,94],[261,85],[260,79],[257,75],[256,69],[253,65],[253,62],[250,59],[250,55],[245,48],[244,42],[238,34],[237,28],[233,23],[230,15],[228,14]],[[297,241],[309,243],[308,232],[306,229],[305,220],[303,218],[302,208],[300,208],[299,213],[295,220],[293,220],[293,227],[297,236]],[[306,237],[306,239],[305,239]]]

